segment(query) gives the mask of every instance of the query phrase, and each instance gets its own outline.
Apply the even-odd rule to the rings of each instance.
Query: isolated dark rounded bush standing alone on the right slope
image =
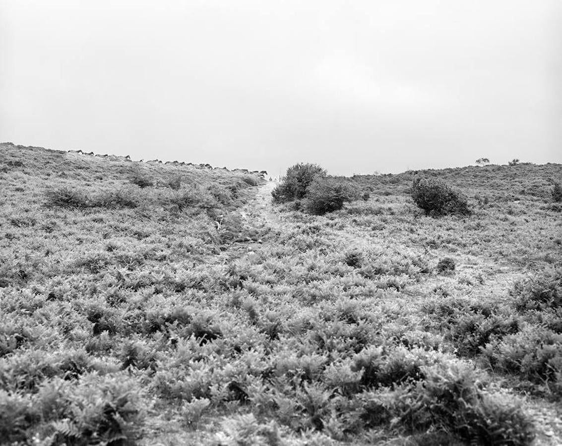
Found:
[[[466,195],[441,180],[415,178],[411,196],[414,202],[425,211],[425,215],[437,216],[452,213],[466,215],[470,213]]]

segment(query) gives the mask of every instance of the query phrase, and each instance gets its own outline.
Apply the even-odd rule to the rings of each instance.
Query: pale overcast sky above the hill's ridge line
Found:
[[[332,174],[562,162],[560,0],[0,0],[0,140]]]

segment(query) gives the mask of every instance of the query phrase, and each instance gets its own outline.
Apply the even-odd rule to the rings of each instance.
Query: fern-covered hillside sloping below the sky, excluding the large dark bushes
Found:
[[[562,166],[325,216],[197,167],[0,145],[3,442],[562,442]]]

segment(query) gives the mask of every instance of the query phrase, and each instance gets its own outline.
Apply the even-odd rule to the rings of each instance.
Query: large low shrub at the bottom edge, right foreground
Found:
[[[472,368],[448,362],[421,370],[424,377],[419,381],[358,395],[366,427],[389,425],[416,437],[442,433],[424,440],[446,442],[422,444],[532,443],[533,425],[522,409],[511,399],[482,390]]]

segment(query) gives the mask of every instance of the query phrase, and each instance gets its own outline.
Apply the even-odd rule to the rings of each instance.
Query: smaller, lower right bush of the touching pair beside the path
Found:
[[[314,215],[338,211],[351,201],[351,191],[343,184],[327,178],[315,178],[306,193],[306,211]]]

